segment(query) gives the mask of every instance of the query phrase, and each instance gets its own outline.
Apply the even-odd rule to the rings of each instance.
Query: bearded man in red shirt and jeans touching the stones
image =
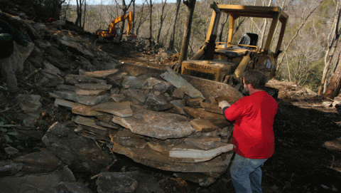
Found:
[[[276,100],[262,88],[266,77],[260,71],[247,71],[243,78],[248,96],[229,105],[219,103],[227,120],[233,121],[232,144],[236,155],[230,173],[236,192],[261,192],[261,167],[274,154]]]

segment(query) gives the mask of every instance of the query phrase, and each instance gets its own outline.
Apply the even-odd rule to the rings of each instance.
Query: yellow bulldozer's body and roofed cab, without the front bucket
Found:
[[[213,3],[211,8],[213,9],[212,18],[205,44],[193,58],[183,61],[181,73],[228,83],[237,89],[242,88],[243,73],[251,69],[262,71],[267,80],[274,78],[288,15],[278,6]],[[229,16],[229,33],[226,38],[227,42],[220,42],[217,41],[217,30],[220,26],[220,17],[226,14]],[[268,31],[265,31],[264,41],[260,41],[259,34],[251,33],[251,31],[247,31],[244,36],[238,38],[236,34],[241,30],[240,28],[237,30],[237,22],[240,23],[244,19],[271,20]]]

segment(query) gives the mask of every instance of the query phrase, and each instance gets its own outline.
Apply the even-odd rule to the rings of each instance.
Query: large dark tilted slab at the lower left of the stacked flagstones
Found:
[[[78,136],[60,122],[50,126],[43,143],[60,160],[76,172],[97,173],[112,162],[112,157],[99,150],[93,140]]]

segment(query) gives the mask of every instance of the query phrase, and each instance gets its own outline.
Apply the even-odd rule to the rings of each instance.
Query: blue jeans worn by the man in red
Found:
[[[250,159],[235,155],[230,173],[234,190],[239,193],[261,192],[261,167],[268,159]]]

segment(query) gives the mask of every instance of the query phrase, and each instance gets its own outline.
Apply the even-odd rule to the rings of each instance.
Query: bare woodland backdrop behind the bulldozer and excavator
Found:
[[[20,1],[20,0],[17,0]],[[210,4],[202,0],[30,0],[38,4],[40,15],[72,21],[85,31],[95,33],[107,29],[111,21],[129,11],[134,12],[132,33],[138,39],[158,43],[168,51],[180,52],[184,33],[188,29],[190,9],[194,9],[190,41],[186,58],[190,58],[205,43],[212,16]],[[170,2],[168,2],[170,1]],[[175,1],[175,2],[174,2]],[[288,14],[288,24],[278,57],[276,78],[303,85],[334,98],[340,93],[341,65],[339,45],[341,0],[221,0],[219,4],[279,6]],[[58,6],[59,10],[50,11]],[[189,5],[193,7],[190,8]],[[53,9],[55,10],[55,9]],[[217,41],[227,41],[229,19],[220,19]],[[266,38],[269,19],[238,19],[234,41],[244,33],[258,33]],[[126,22],[121,22],[126,31]],[[260,41],[261,42],[261,41]],[[233,43],[233,41],[232,41]],[[329,92],[328,92],[329,90]]]

